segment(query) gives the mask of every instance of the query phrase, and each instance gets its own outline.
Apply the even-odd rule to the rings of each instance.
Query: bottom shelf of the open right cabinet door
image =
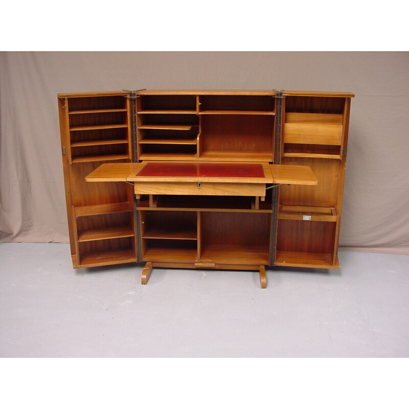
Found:
[[[332,264],[332,255],[326,253],[277,251],[275,265],[308,268],[339,268],[338,257]]]

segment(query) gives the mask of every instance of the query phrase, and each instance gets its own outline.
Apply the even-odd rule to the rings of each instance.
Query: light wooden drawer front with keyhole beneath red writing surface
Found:
[[[212,182],[135,182],[135,194],[265,196],[265,184]]]

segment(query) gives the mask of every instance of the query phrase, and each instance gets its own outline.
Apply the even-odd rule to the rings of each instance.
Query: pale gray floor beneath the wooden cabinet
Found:
[[[340,270],[72,268],[70,247],[0,243],[1,357],[408,357],[409,256]]]

